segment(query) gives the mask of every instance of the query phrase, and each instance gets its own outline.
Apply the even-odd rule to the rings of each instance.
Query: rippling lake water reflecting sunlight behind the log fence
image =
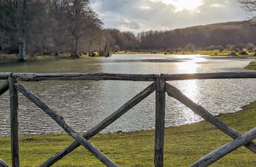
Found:
[[[254,58],[255,59],[255,58]],[[24,73],[203,73],[248,71],[252,59],[208,55],[112,55],[93,59],[68,59],[1,64],[0,72]],[[3,81],[0,81],[2,83]],[[40,81],[20,82],[78,132],[86,132],[141,92],[146,81]],[[169,81],[208,112],[237,112],[256,100],[255,79],[206,79]],[[201,119],[166,96],[166,127]],[[0,96],[0,136],[10,134],[9,94]],[[52,118],[19,94],[20,134],[64,132]],[[149,130],[155,126],[155,94],[129,110],[103,132]]]

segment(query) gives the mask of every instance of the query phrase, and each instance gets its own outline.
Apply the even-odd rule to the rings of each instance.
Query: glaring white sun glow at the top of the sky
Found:
[[[202,0],[161,0],[163,3],[172,4],[176,7],[176,12],[183,9],[194,10],[202,5]]]

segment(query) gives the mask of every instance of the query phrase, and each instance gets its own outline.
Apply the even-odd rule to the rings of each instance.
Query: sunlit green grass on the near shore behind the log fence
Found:
[[[218,118],[241,133],[255,127],[256,102],[233,114]],[[38,166],[52,154],[74,140],[66,134],[20,136],[21,166]],[[166,128],[164,166],[189,166],[232,139],[202,121],[184,126]],[[98,134],[90,142],[119,166],[153,166],[154,130],[128,133]],[[10,138],[0,138],[0,157],[11,165]],[[103,166],[82,146],[54,166]],[[247,148],[239,148],[221,158],[212,166],[256,166],[256,156]]]

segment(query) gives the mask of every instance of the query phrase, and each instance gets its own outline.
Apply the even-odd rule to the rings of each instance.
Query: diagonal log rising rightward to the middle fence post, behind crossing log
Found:
[[[115,120],[117,120],[119,117],[123,116],[123,114],[125,114],[128,110],[130,110],[135,105],[137,105],[139,102],[141,102],[141,100],[147,98],[147,96],[149,96],[151,93],[153,93],[155,91],[155,87],[156,87],[156,84],[154,82],[150,86],[145,88],[142,92],[137,94],[137,96],[135,96],[134,98],[129,100],[129,102],[125,103],[116,112],[111,114],[111,116],[109,116],[105,120],[103,120],[103,122],[99,123],[97,126],[94,126],[94,128],[92,128],[91,130],[86,132],[86,134],[84,134],[84,138],[86,138],[87,140],[92,138],[95,134],[101,132],[101,130],[103,130],[104,128],[106,128],[107,126],[109,126],[110,124],[115,122]],[[40,166],[41,167],[52,166],[52,164],[54,164],[55,162],[57,162],[58,160],[60,160],[64,156],[66,156],[68,153],[72,152],[78,146],[80,146],[79,142],[77,142],[77,141],[73,142],[72,144],[70,144],[69,146],[67,146],[60,152],[58,152],[57,154],[54,154],[53,156],[51,156],[48,160],[46,160],[46,162],[44,162]]]

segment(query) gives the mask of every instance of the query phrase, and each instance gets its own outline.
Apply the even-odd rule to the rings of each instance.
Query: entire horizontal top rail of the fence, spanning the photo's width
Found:
[[[0,73],[0,79],[7,79],[9,73]],[[13,73],[13,77],[21,81],[46,80],[126,80],[126,81],[156,81],[155,74],[122,74],[122,73]],[[255,71],[249,72],[220,72],[220,73],[184,73],[161,74],[166,81],[186,79],[232,79],[256,78]]]

